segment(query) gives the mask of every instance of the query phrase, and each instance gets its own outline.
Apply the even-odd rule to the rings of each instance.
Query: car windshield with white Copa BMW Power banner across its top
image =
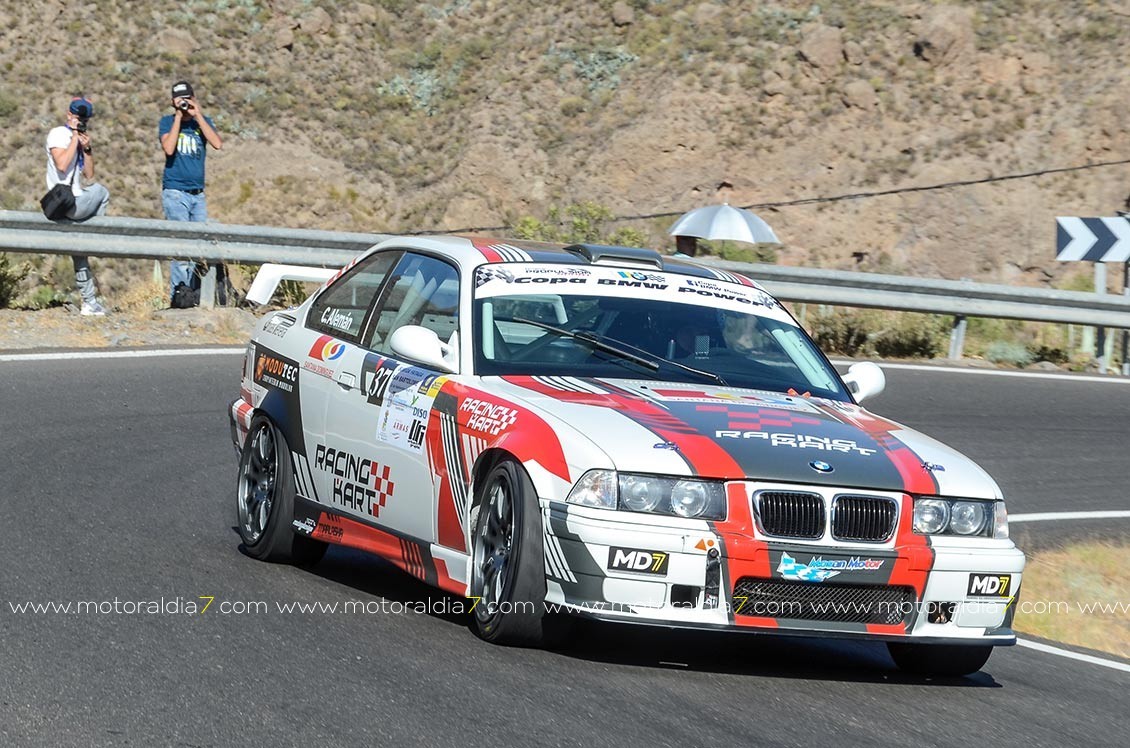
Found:
[[[675,273],[506,263],[476,275],[481,375],[697,382],[850,401],[759,288]]]

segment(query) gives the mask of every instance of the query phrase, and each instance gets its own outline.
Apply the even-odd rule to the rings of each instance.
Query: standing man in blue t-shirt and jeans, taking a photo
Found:
[[[173,113],[160,118],[157,127],[165,151],[165,173],[160,179],[160,202],[167,220],[208,220],[205,202],[206,143],[216,150],[224,146],[211,118],[203,116],[186,80],[173,84]],[[169,298],[177,284],[192,287],[194,263],[173,260],[168,263]]]

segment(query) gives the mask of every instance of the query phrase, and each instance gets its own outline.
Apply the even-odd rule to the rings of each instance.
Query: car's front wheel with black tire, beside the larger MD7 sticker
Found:
[[[546,612],[538,496],[522,466],[504,459],[477,481],[471,523],[471,627],[507,646],[554,646],[568,619]]]

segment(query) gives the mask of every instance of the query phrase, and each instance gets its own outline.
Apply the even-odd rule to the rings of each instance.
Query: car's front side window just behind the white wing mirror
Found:
[[[459,271],[454,267],[435,258],[406,253],[373,313],[365,347],[392,355],[389,336],[406,324],[427,328],[443,342],[458,342],[454,332],[459,329]]]

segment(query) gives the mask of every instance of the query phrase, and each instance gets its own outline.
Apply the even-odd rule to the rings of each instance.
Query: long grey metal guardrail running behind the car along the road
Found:
[[[97,217],[80,224],[54,223],[35,212],[0,210],[0,252],[336,267],[388,237],[388,234],[148,218]],[[1123,296],[699,260],[756,278],[770,293],[789,302],[954,315],[950,358],[960,357],[965,319],[970,316],[1130,330],[1130,298]]]

